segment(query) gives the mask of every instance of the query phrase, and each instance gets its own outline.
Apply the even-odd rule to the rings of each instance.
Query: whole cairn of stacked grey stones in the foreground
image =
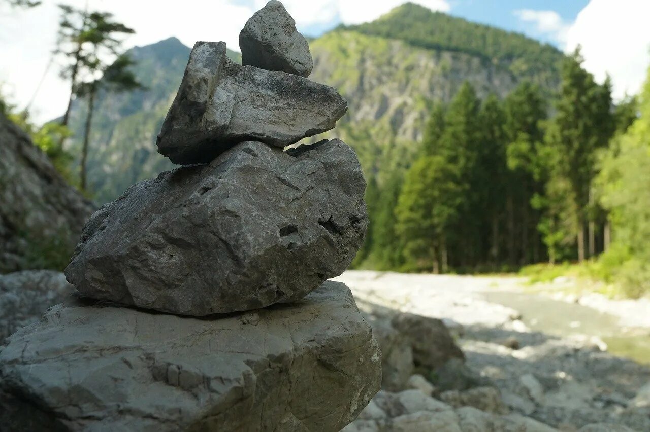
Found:
[[[370,326],[326,282],[368,223],[356,154],[283,151],[346,101],[307,79],[279,1],[240,48],[194,45],[157,142],[184,166],[94,213],[66,269],[83,295],[0,348],[0,429],[339,431],[379,390]]]

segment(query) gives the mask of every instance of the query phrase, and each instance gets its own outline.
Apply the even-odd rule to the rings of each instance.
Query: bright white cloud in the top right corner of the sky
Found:
[[[609,73],[614,97],[640,90],[650,66],[650,1],[591,0],[567,31],[565,49],[582,45],[584,67],[597,80]]]

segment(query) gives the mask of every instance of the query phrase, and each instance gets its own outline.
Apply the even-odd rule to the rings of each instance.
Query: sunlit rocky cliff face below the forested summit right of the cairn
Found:
[[[408,162],[433,102],[450,101],[463,82],[479,97],[504,97],[517,84],[510,71],[479,56],[354,31],[331,32],[311,46],[312,79],[338,88],[350,104],[337,136],[352,143],[365,173]]]

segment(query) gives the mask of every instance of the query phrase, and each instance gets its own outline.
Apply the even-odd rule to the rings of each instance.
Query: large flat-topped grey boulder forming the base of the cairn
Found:
[[[0,424],[339,431],[380,379],[370,326],[341,283],[291,306],[211,318],[71,297],[0,351]]]

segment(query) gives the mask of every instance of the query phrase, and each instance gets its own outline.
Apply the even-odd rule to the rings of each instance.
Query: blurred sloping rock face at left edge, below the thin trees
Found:
[[[0,114],[0,273],[63,267],[94,211]]]

